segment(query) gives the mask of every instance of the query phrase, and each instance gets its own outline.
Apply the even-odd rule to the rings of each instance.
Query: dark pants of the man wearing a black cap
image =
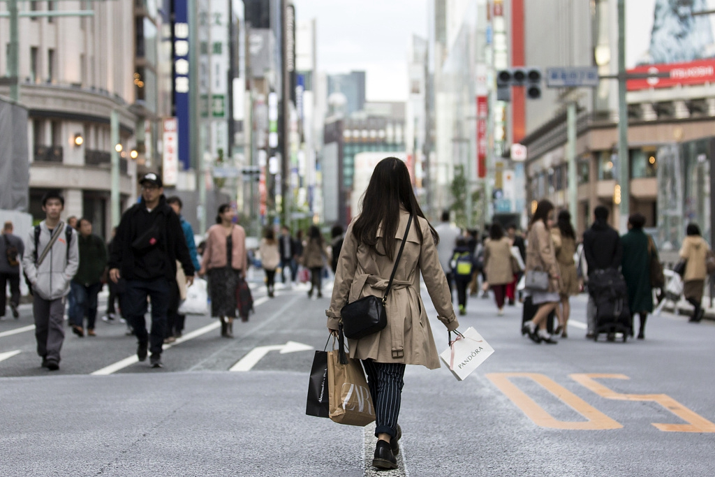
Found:
[[[147,343],[151,338],[149,350],[152,355],[162,354],[171,295],[170,285],[169,280],[164,277],[154,280],[127,280],[127,292],[122,301],[127,308],[124,313],[127,321],[132,324],[139,343]],[[151,335],[147,332],[147,321],[144,318],[147,313],[147,297],[152,299]]]

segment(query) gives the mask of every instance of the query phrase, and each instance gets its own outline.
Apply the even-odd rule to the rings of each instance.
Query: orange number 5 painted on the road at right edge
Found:
[[[700,432],[715,433],[715,424],[708,421],[701,415],[694,413],[689,408],[671,398],[667,394],[621,394],[598,383],[596,379],[630,379],[622,374],[572,374],[571,379],[576,383],[592,390],[594,393],[606,399],[652,401],[659,403],[664,408],[674,413],[687,424],[662,424],[651,423],[653,426],[664,432]]]

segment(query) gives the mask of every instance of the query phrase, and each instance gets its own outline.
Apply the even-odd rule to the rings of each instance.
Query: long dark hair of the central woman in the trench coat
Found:
[[[397,157],[387,157],[378,162],[361,202],[360,217],[352,225],[352,235],[358,240],[358,244],[365,244],[378,255],[383,255],[377,247],[378,227],[382,225],[383,250],[385,255],[393,260],[395,232],[400,222],[400,205],[413,216],[425,218],[412,190],[410,172],[405,163]],[[413,220],[416,220],[416,217]],[[420,226],[415,224],[414,227],[420,241],[423,240]],[[438,243],[440,237],[431,224],[430,232],[435,243]]]

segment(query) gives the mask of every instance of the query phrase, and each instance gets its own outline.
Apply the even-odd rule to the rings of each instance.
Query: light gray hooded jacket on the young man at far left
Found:
[[[63,222],[59,222],[62,224]],[[58,224],[59,227],[59,224]],[[64,225],[67,227],[67,225]],[[37,246],[37,257],[42,255],[51,233],[43,220],[40,222],[40,237]],[[27,280],[32,284],[32,290],[44,300],[56,300],[69,293],[69,282],[77,273],[79,267],[79,250],[77,249],[77,232],[72,230],[69,245],[69,257],[67,256],[67,243],[65,230],[60,232],[59,237],[52,245],[52,249],[45,257],[39,269],[35,266],[35,229],[31,228],[25,240],[25,254],[22,257],[22,267],[24,268]]]

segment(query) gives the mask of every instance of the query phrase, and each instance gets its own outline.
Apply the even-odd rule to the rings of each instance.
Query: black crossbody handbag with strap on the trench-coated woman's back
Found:
[[[352,303],[348,303],[340,310],[340,325],[342,326],[342,331],[345,333],[347,338],[350,338],[351,340],[359,340],[360,338],[365,338],[365,336],[372,335],[373,333],[378,333],[378,331],[383,330],[388,325],[388,316],[385,313],[385,303],[388,300],[390,287],[393,285],[395,272],[398,270],[398,263],[400,263],[400,257],[402,257],[405,242],[407,242],[410,225],[412,225],[411,214],[410,219],[407,222],[407,227],[405,228],[405,236],[400,244],[400,251],[398,252],[397,260],[395,260],[395,265],[393,266],[392,275],[390,275],[388,287],[385,288],[385,295],[383,295],[382,298],[376,297],[375,295],[368,295],[360,298],[359,300],[355,300]]]

